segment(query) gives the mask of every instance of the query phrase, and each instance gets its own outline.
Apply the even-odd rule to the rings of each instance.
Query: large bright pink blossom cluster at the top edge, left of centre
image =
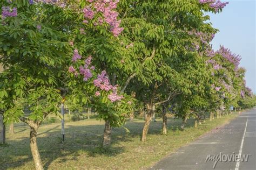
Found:
[[[117,3],[119,2],[119,0],[87,1],[92,4],[90,4],[83,10],[85,17],[83,23],[88,23],[87,19],[92,19],[97,12],[100,12],[103,14],[104,18],[98,18],[98,23],[93,23],[95,26],[102,25],[103,22],[106,22],[110,25],[110,31],[115,37],[117,37],[124,30],[123,27],[120,27],[121,20],[117,19],[119,13],[117,11],[114,11],[114,9],[117,8]],[[93,8],[91,8],[91,6],[94,6],[96,11],[94,11]]]

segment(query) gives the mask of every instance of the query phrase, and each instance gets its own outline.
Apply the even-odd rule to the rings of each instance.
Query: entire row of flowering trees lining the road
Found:
[[[156,108],[199,121],[207,112],[250,108],[240,56],[216,52],[206,12],[226,3],[198,0],[0,0],[0,109],[5,123],[30,126],[36,169],[43,169],[38,128],[65,99],[89,106],[111,127],[146,107],[142,141]],[[31,111],[24,114],[24,106]],[[212,114],[211,114],[212,115]]]

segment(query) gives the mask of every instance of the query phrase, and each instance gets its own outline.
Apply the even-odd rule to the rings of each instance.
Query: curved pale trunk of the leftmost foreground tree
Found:
[[[39,125],[33,124],[30,125],[30,149],[33,156],[33,160],[35,162],[36,170],[44,169],[41,157],[37,147],[37,132],[38,132]]]

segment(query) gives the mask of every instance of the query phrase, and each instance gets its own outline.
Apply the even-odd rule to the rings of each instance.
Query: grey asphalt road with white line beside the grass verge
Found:
[[[242,161],[240,156],[247,156]],[[214,157],[209,157],[209,155]],[[208,160],[206,158],[208,156]],[[237,157],[237,158],[235,158]],[[212,159],[211,159],[212,158]],[[227,159],[230,159],[228,161]],[[235,160],[237,159],[237,160]],[[215,167],[213,168],[215,163]],[[150,169],[256,169],[256,109],[179,148]]]

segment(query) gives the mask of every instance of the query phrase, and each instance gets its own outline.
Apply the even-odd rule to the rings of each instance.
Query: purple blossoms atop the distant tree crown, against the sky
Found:
[[[240,55],[235,55],[230,51],[230,49],[225,48],[224,46],[220,46],[220,49],[216,53],[222,55],[225,59],[233,63],[233,65],[235,66],[235,70],[238,69],[241,61]]]

